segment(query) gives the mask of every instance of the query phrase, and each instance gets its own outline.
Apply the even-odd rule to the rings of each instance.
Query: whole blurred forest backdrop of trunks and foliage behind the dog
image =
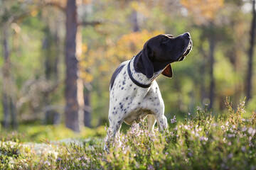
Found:
[[[157,81],[168,120],[246,96],[255,111],[255,1],[0,0],[0,130],[108,123],[114,69],[161,33],[191,33],[193,51]],[[248,115],[249,116],[249,115]]]

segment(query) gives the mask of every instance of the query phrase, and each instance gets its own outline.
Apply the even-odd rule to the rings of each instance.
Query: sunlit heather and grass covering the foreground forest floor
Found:
[[[256,113],[244,118],[244,101],[235,110],[225,104],[226,115],[198,107],[164,132],[134,124],[109,152],[102,138],[28,143],[20,133],[1,135],[0,169],[256,169]]]

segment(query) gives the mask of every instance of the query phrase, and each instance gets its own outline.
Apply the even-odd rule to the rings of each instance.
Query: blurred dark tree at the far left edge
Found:
[[[14,77],[11,75],[11,47],[10,47],[10,26],[14,21],[12,16],[13,11],[22,11],[18,8],[14,1],[0,1],[2,13],[0,13],[0,26],[2,27],[2,51],[4,57],[4,64],[2,68],[2,104],[4,108],[4,128],[9,128],[10,124],[13,128],[18,127],[17,111],[16,111],[16,91],[14,84]]]

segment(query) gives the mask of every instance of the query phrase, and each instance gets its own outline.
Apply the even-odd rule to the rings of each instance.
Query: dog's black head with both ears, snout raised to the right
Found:
[[[154,72],[160,70],[163,70],[164,76],[171,78],[171,63],[184,60],[191,50],[192,40],[189,33],[183,33],[176,38],[169,34],[157,35],[144,44],[143,50],[134,59],[134,68],[149,79]]]

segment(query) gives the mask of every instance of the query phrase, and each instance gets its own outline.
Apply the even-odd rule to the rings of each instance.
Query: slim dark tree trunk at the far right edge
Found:
[[[255,0],[252,0],[252,23],[250,30],[250,48],[248,51],[248,69],[247,69],[247,77],[246,77],[246,85],[245,85],[245,94],[246,101],[249,101],[252,98],[252,57],[254,53],[254,45],[255,45],[255,25],[256,25],[256,11],[255,11]]]

